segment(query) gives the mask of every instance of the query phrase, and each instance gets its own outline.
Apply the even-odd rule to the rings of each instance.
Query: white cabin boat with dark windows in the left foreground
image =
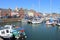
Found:
[[[11,27],[12,27],[11,25],[5,25],[4,27],[1,27],[0,28],[0,37],[10,38],[12,36]]]

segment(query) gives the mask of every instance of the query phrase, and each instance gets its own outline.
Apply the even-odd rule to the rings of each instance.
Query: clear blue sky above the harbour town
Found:
[[[0,0],[0,8],[34,9],[42,13],[60,13],[60,0]]]

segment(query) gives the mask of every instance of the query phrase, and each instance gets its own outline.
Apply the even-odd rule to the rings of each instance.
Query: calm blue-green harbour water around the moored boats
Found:
[[[21,22],[11,22],[1,24],[13,24],[25,29],[27,39],[26,40],[60,40],[60,27],[41,24],[27,24]]]

